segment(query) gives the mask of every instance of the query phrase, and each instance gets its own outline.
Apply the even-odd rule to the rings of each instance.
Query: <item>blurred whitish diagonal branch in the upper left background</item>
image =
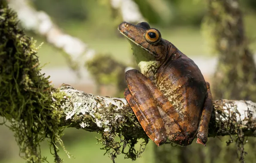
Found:
[[[84,69],[84,63],[91,60],[97,53],[81,39],[64,33],[43,11],[37,11],[29,0],[9,0],[9,6],[17,12],[22,27],[45,37],[49,44],[61,49],[65,57],[78,75]]]

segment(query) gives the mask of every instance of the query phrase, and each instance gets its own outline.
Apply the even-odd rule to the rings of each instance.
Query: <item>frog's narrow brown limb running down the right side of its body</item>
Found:
[[[200,124],[197,134],[197,143],[205,145],[208,137],[208,126],[210,122],[210,116],[213,109],[213,97],[210,92],[210,84],[206,82],[207,85],[207,94],[204,101],[204,108],[202,110]]]

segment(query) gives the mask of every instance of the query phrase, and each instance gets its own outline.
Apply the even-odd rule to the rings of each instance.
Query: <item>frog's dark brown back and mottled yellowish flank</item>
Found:
[[[168,60],[158,69],[156,85],[179,112],[180,125],[196,132],[207,87],[194,61],[185,54]]]

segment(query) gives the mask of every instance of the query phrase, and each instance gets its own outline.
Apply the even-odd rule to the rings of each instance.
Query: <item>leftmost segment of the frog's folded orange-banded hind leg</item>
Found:
[[[134,99],[134,103],[137,104],[132,105],[132,109],[135,110],[134,113],[143,129],[147,135],[152,135],[152,132],[154,133],[154,135],[152,135],[154,138],[152,139],[150,136],[149,138],[152,139],[156,145],[165,143],[167,136],[164,121],[162,120],[152,91],[150,91],[150,87],[155,87],[155,84],[135,69],[127,71],[125,78],[131,97]],[[128,98],[128,94],[125,98],[127,100],[131,99]],[[130,102],[133,103],[132,100],[130,100]],[[138,115],[136,111],[139,111],[137,112]]]

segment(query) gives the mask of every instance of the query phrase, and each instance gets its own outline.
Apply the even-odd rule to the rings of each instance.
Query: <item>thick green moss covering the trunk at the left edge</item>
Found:
[[[0,116],[10,122],[20,156],[27,163],[46,161],[40,154],[40,142],[46,138],[50,139],[55,162],[60,163],[56,142],[63,146],[58,109],[64,94],[54,90],[49,77],[40,73],[36,42],[17,24],[16,13],[0,0]]]

